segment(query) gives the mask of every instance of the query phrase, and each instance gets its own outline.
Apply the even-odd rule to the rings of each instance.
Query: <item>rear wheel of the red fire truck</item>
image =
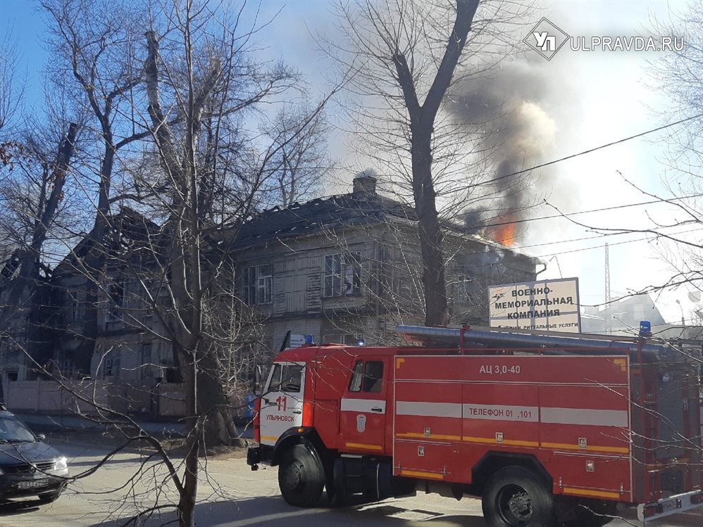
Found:
[[[554,500],[547,486],[523,466],[506,466],[483,490],[483,517],[489,527],[554,527]]]

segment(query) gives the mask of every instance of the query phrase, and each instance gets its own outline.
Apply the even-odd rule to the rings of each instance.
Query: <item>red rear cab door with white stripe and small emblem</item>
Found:
[[[385,452],[388,360],[359,359],[341,403],[340,434],[347,451]]]

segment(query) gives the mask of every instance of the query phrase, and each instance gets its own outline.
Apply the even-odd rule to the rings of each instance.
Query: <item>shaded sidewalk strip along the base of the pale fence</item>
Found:
[[[77,415],[43,415],[15,412],[15,415],[22,419],[35,433],[48,433],[65,431],[87,431],[91,428],[95,430],[105,430],[110,425],[98,424],[85,417]],[[185,424],[178,421],[159,422],[144,421],[135,417],[135,421],[145,432],[154,436],[184,436]],[[237,431],[242,433],[243,438],[254,437],[251,426],[244,429],[244,424],[237,424]]]

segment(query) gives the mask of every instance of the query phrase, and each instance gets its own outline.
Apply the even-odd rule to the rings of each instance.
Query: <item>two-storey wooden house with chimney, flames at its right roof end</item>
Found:
[[[487,288],[535,279],[536,260],[463,225],[444,224],[452,323],[487,324]],[[232,244],[239,291],[266,321],[316,341],[390,342],[423,320],[423,265],[413,208],[382,196],[371,176],[351,193],[262,212]]]

